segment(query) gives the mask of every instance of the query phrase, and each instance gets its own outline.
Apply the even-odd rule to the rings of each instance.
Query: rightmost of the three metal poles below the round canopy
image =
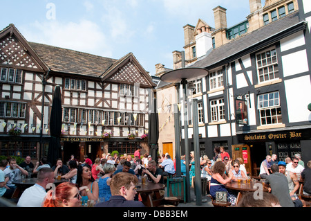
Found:
[[[201,185],[201,168],[200,168],[200,145],[198,136],[198,100],[192,100],[192,124],[194,125],[194,166],[195,166],[195,189],[196,204],[202,205],[202,185]]]

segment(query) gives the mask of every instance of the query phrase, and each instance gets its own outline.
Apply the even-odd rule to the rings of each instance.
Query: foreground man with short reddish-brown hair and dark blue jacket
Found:
[[[138,178],[130,173],[120,172],[111,179],[111,197],[106,202],[95,204],[95,207],[144,207],[140,201],[135,201],[137,194],[135,186]]]

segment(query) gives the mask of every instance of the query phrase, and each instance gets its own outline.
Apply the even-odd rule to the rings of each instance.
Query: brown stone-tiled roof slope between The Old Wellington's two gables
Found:
[[[117,60],[66,48],[29,42],[51,71],[100,77]]]

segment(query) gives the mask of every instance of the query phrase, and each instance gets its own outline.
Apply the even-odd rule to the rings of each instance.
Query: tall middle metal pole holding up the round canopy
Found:
[[[188,112],[187,112],[187,80],[182,79],[183,99],[184,99],[184,129],[185,129],[185,155],[186,155],[186,201],[191,202],[190,198],[190,160],[189,160],[189,143],[188,143]]]

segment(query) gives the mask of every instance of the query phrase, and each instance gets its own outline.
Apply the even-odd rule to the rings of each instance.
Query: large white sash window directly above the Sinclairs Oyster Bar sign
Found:
[[[258,95],[258,112],[261,125],[282,124],[279,91]]]

